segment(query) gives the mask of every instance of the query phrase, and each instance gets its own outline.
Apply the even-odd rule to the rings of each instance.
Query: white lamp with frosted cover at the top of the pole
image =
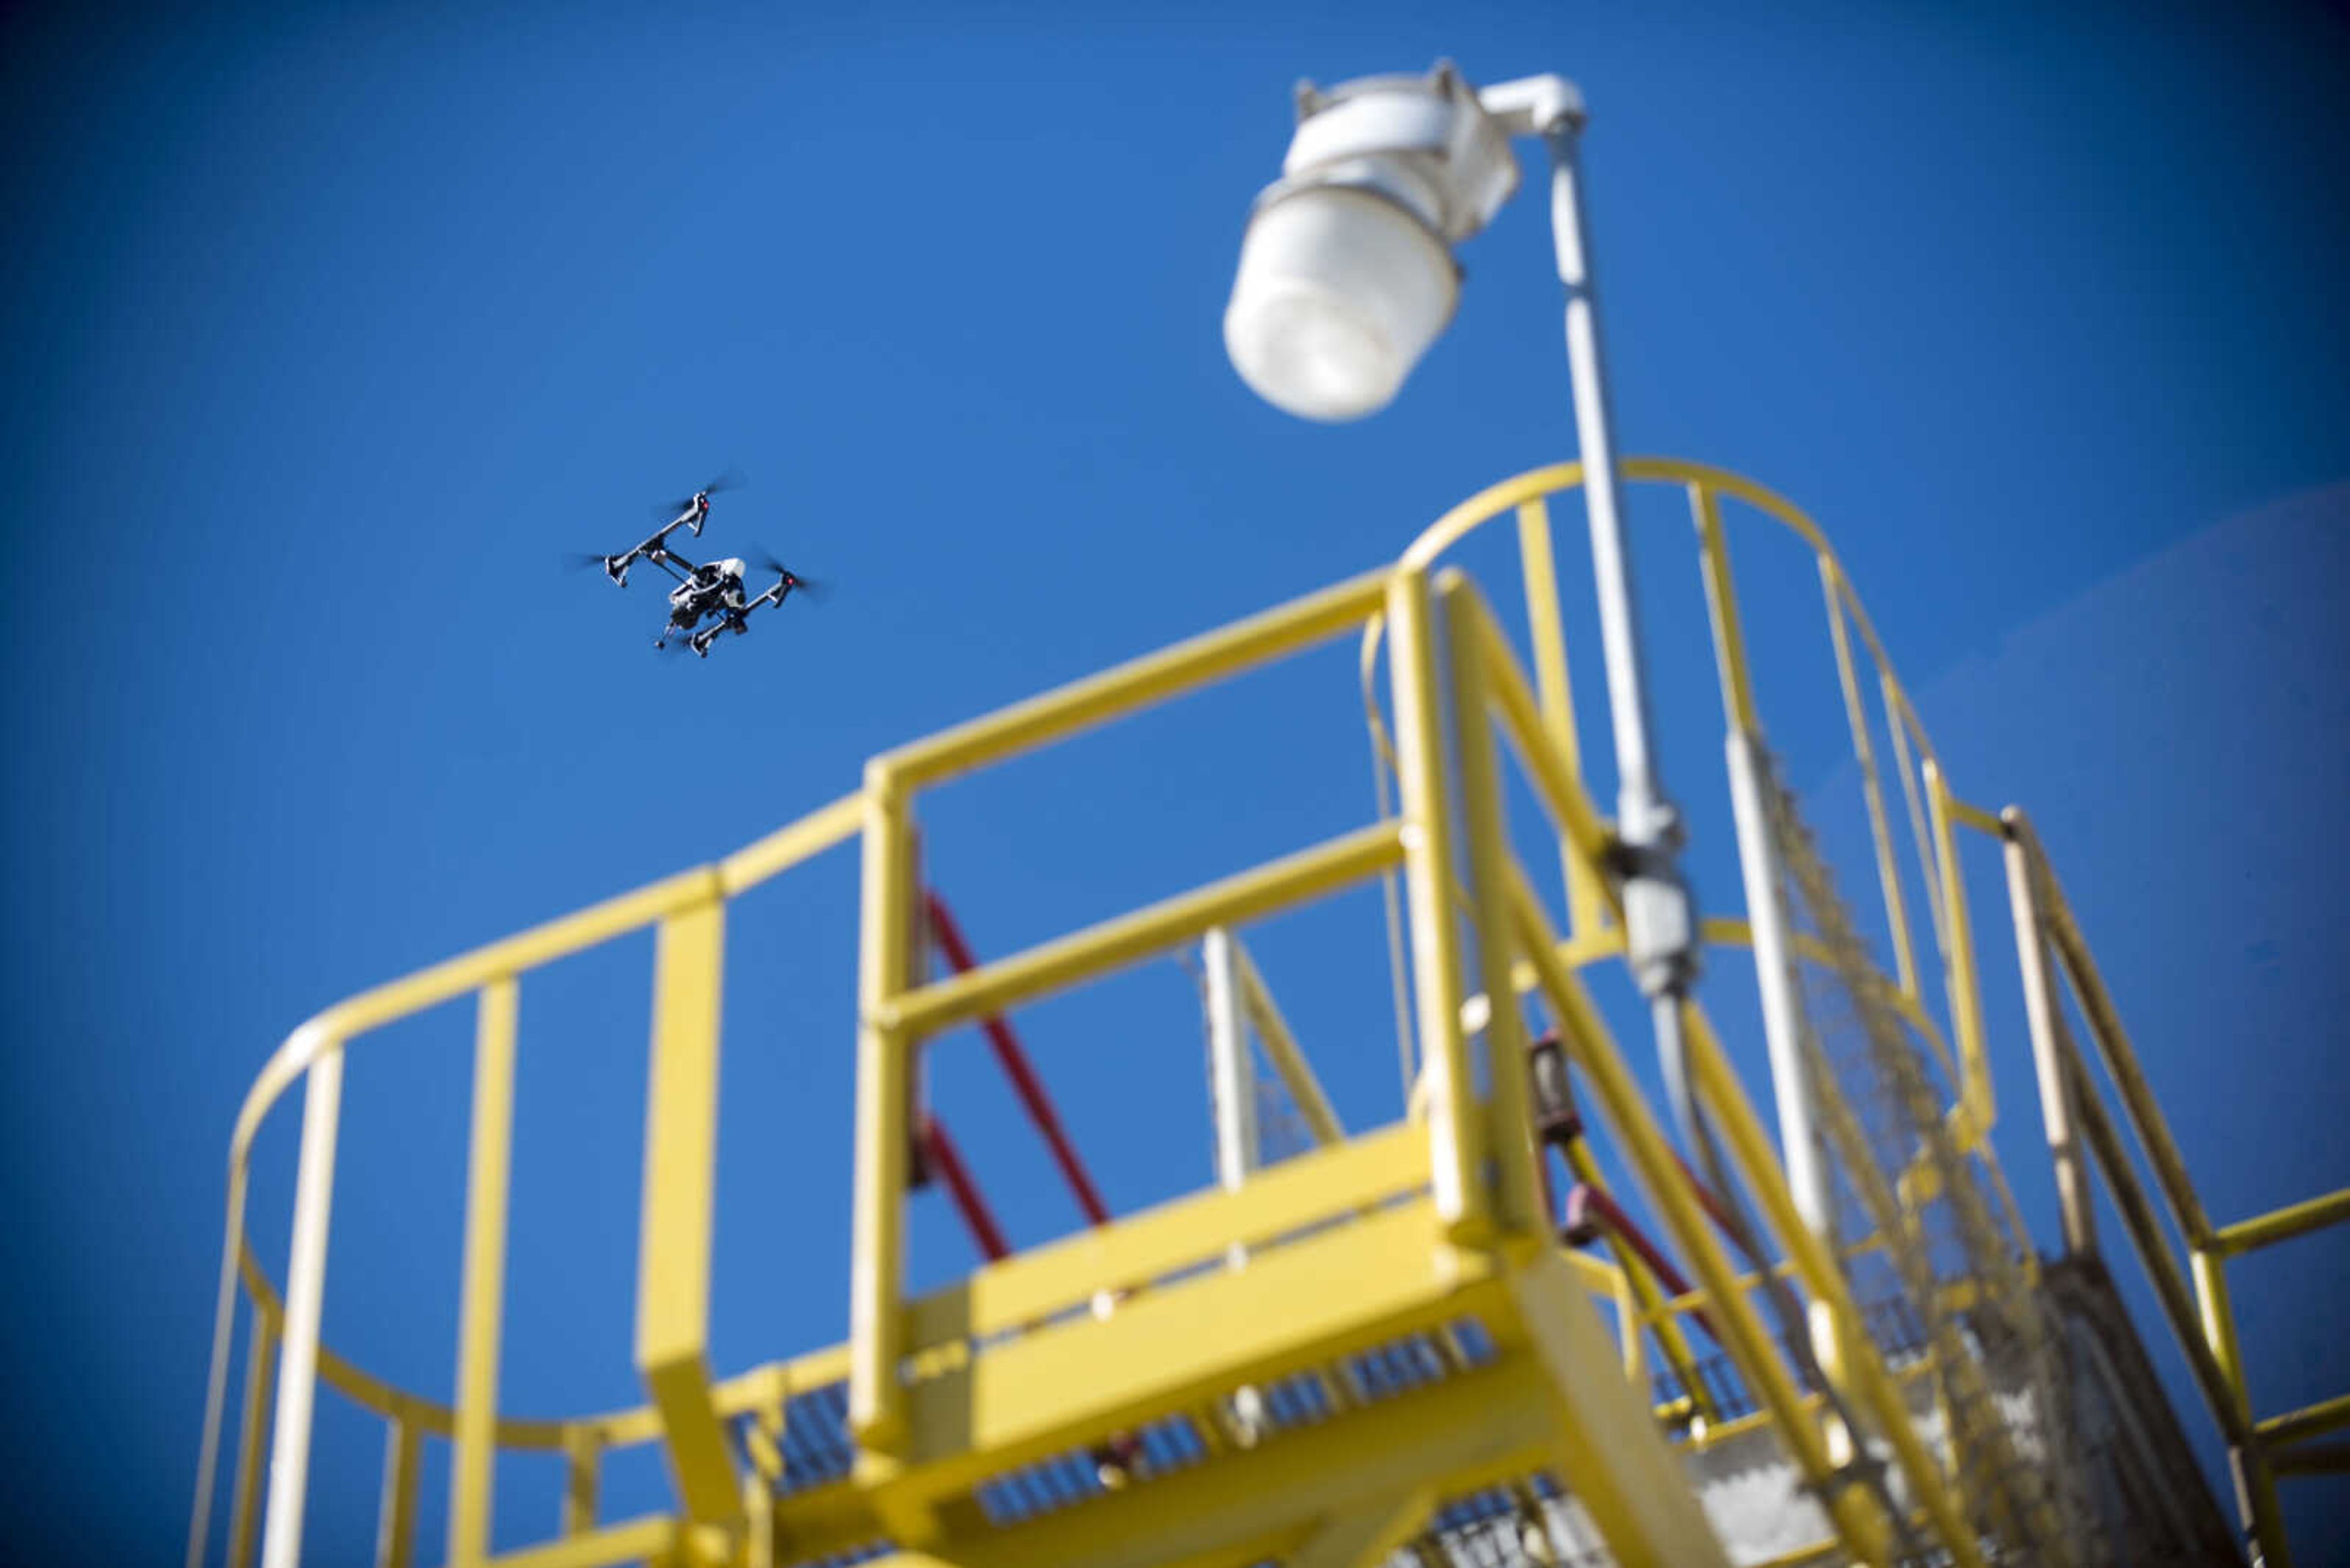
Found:
[[[1288,414],[1377,414],[1452,320],[1452,244],[1516,186],[1504,125],[1450,63],[1300,87],[1290,155],[1257,195],[1224,308],[1234,369]]]

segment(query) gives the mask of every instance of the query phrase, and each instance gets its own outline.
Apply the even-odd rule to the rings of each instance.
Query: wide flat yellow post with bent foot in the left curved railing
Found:
[[[700,1523],[743,1512],[707,1354],[724,936],[726,905],[712,893],[667,914],[656,938],[637,1248],[637,1373],[660,1410],[679,1502]]]

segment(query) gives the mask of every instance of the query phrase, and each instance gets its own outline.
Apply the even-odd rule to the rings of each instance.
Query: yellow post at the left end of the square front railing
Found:
[[[848,1274],[848,1429],[877,1455],[907,1446],[905,1178],[907,1051],[898,994],[914,919],[909,802],[884,762],[865,769],[865,896],[858,943],[855,1213]]]

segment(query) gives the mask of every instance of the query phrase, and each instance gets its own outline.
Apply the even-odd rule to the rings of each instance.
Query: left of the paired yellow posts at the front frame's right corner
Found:
[[[1436,625],[1424,571],[1386,585],[1389,686],[1396,701],[1396,776],[1403,799],[1405,903],[1412,926],[1412,992],[1419,1004],[1422,1081],[1429,1086],[1429,1168],[1445,1237],[1492,1239],[1480,1180],[1476,1079],[1462,1039],[1459,936],[1452,922],[1452,823],[1445,804],[1445,741],[1436,698]]]

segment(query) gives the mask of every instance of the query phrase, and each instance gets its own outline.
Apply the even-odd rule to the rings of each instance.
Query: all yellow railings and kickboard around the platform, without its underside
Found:
[[[2110,1117],[2089,1093],[2087,1067],[2063,1034],[2061,1016],[2047,997],[2030,994],[2035,969],[2028,957],[2026,990],[2035,1044],[2042,1044],[2042,1032],[2049,1037],[2042,1048],[2042,1110],[2049,1114],[2059,1192],[2063,1197],[2082,1182],[2084,1161],[2073,1140],[2077,1126],[2148,1258],[2164,1312],[2188,1345],[2197,1380],[2223,1432],[2237,1446],[2247,1476],[2247,1512],[2261,1540],[2270,1542],[2275,1533],[2270,1474],[2317,1467],[2317,1450],[2296,1446],[2350,1425],[2350,1399],[2254,1422],[2221,1260],[2350,1218],[2350,1192],[2214,1229],[2186,1182],[2183,1164],[2162,1128],[2160,1112],[2153,1110],[2129,1044],[2028,825],[2019,813],[1995,818],[1950,790],[1943,764],[1821,531],[1777,494],[1725,470],[1631,458],[1624,463],[1624,475],[1678,484],[1687,494],[1708,592],[1723,712],[1732,726],[1758,726],[1760,701],[1739,623],[1723,503],[1739,501],[1765,512],[1814,550],[1828,642],[1835,651],[1838,701],[1852,729],[1878,891],[1892,936],[1896,973],[1887,985],[1901,1016],[1941,1056],[1955,1086],[1955,1103],[1948,1107],[1950,1128],[1962,1147],[1981,1157],[2009,1215],[2014,1199],[1998,1173],[1988,1140],[1995,1098],[1958,830],[1998,835],[2009,849],[2012,872],[2016,858],[2023,858],[2023,882],[2012,884],[2026,889],[2016,893],[2019,936],[2026,926],[2035,933],[2030,943],[2035,954],[2042,952],[2044,936],[2092,1020],[2096,1046],[2120,1086],[2124,1117],[2148,1150],[2174,1220],[2188,1237],[2195,1295],[2190,1298],[2169,1253],[2160,1248],[2150,1204],[2122,1157]],[[1927,1373],[1915,1368],[1894,1373],[1871,1342],[1840,1258],[1828,1239],[1802,1222],[1772,1138],[1746,1100],[1706,1013],[1697,1004],[1685,1009],[1694,1098],[1720,1128],[1730,1166],[1760,1211],[1767,1239],[1777,1241],[1784,1255],[1772,1267],[1802,1288],[1817,1316],[1828,1319],[1833,1333],[1826,1338],[1838,1354],[1821,1356],[1824,1371],[1842,1406],[1856,1410],[1889,1446],[1908,1505],[1920,1509],[1915,1519],[1889,1519],[1868,1488],[1838,1483],[1838,1429],[1826,1420],[1821,1396],[1800,1387],[1798,1368],[1748,1300],[1751,1276],[1741,1279],[1737,1272],[1659,1119],[1584,992],[1579,971],[1622,954],[1622,919],[1610,872],[1612,830],[1582,780],[1565,665],[1565,616],[1558,604],[1551,545],[1549,496],[1572,489],[1579,480],[1579,465],[1565,463],[1492,487],[1438,520],[1396,569],[1365,574],[877,757],[860,792],[712,867],[672,877],[378,987],[296,1030],[256,1081],[230,1147],[228,1234],[190,1568],[202,1568],[209,1537],[240,1286],[251,1302],[254,1326],[228,1521],[233,1568],[244,1568],[256,1544],[268,1568],[287,1568],[298,1556],[310,1401],[317,1382],[385,1422],[381,1563],[414,1561],[421,1443],[430,1439],[451,1443],[454,1453],[451,1563],[585,1568],[651,1559],[750,1566],[771,1561],[783,1540],[790,1540],[792,1552],[801,1556],[867,1544],[884,1535],[907,1547],[921,1544],[954,1526],[952,1514],[971,1486],[1046,1453],[1053,1443],[1072,1441],[1083,1420],[1093,1420],[1107,1434],[1119,1429],[1119,1422],[1196,1406],[1213,1392],[1208,1368],[1217,1366],[1220,1356],[1234,1363],[1248,1361],[1255,1368],[1250,1375],[1304,1373],[1323,1378],[1330,1387],[1330,1356],[1361,1347],[1347,1335],[1436,1331],[1448,1316],[1464,1312],[1485,1314],[1502,1326],[1518,1319],[1528,1324],[1523,1328],[1528,1338],[1509,1340],[1504,1352],[1523,1352],[1546,1366],[1551,1382],[1544,1385],[1549,1387],[1544,1399],[1558,1403],[1542,1406],[1551,1410],[1544,1420],[1572,1439],[1565,1453],[1589,1493],[1593,1516],[1610,1542],[1631,1547],[1629,1554],[1619,1549],[1619,1556],[1711,1561],[1711,1542],[1697,1544],[1687,1537],[1687,1530],[1697,1528],[1694,1514],[1685,1507],[1680,1472],[1661,1458],[1666,1448],[1657,1422],[1647,1415],[1645,1399],[1626,1403],[1622,1378],[1622,1373],[1640,1375],[1643,1338],[1654,1335],[1657,1349],[1697,1399],[1697,1413],[1706,1415],[1704,1385],[1692,1371],[1694,1349],[1685,1333],[1685,1319],[1699,1302],[1758,1403],[1751,1420],[1770,1425],[1793,1465],[1821,1490],[1842,1552],[1856,1561],[1882,1563],[1892,1559],[1904,1530],[1918,1530],[1939,1540],[1953,1561],[1979,1563],[1969,1505],[1958,1495],[1934,1443],[1918,1432],[1901,1392],[1904,1378]],[[1502,515],[1513,515],[1518,527],[1532,675],[1518,665],[1476,590],[1457,574],[1434,576],[1443,550]],[[914,811],[924,790],[1349,630],[1363,632],[1375,755],[1391,764],[1396,783],[1389,797],[1382,771],[1377,820],[966,973],[916,983]],[[1885,712],[1885,741],[1901,780],[1911,846],[1943,971],[1939,1001],[1950,1023],[1948,1034],[1927,1004],[1901,875],[1904,856],[1892,830],[1889,792],[1854,646],[1868,658]],[[1377,701],[1382,665],[1391,724]],[[1502,818],[1497,733],[1558,842],[1565,933],[1551,929],[1511,846]],[[1448,769],[1448,755],[1455,757],[1455,769]],[[724,910],[728,898],[853,835],[860,837],[862,851],[862,926],[851,1340],[815,1356],[717,1380],[707,1363],[707,1281]],[[924,1039],[956,1023],[1093,980],[1210,929],[1236,926],[1372,877],[1398,875],[1403,896],[1396,969],[1405,1011],[1401,1030],[1405,1058],[1419,1063],[1410,1117],[1403,1124],[1344,1138],[1262,976],[1248,969],[1246,1009],[1323,1147],[1283,1161],[1236,1192],[1180,1199],[1149,1215],[1006,1258],[945,1293],[921,1300],[905,1295],[907,1088],[914,1051]],[[1476,936],[1473,943],[1466,940],[1464,922]],[[552,959],[646,926],[656,931],[656,1009],[634,1361],[649,1403],[604,1415],[517,1420],[496,1410],[494,1392],[519,983],[524,973]],[[1718,945],[1748,940],[1744,922],[1727,917],[1708,919],[1704,936]],[[1812,964],[1826,961],[1826,954],[1805,938],[1795,940],[1795,954]],[[2037,973],[2040,985],[2047,985],[2044,964]],[[468,994],[475,997],[477,1030],[458,1387],[454,1401],[442,1406],[392,1389],[334,1356],[320,1342],[317,1326],[343,1051],[397,1018]],[[1528,1048],[1525,1020],[1516,1004],[1520,997],[1539,1001],[1558,1025],[1574,1072],[1596,1095],[1593,1126],[1614,1138],[1638,1175],[1652,1213],[1697,1276],[1699,1298],[1668,1300],[1650,1269],[1629,1253],[1614,1265],[1579,1255],[1560,1260],[1556,1253],[1546,1234],[1549,1215],[1539,1201],[1528,1084],[1518,1070]],[[280,1298],[244,1239],[247,1159],[261,1119],[296,1081],[303,1084],[306,1114],[294,1246]],[[1591,1180],[1584,1166],[1577,1166],[1577,1173]],[[2075,1241],[2077,1229],[2084,1244],[2084,1199],[2080,1206],[2068,1199],[2066,1213],[2068,1241]],[[1337,1248],[1328,1255],[1307,1253],[1304,1244],[1288,1246],[1290,1237],[1325,1232],[1328,1241],[1314,1246]],[[2023,1234],[2021,1220],[2016,1234]],[[1170,1284],[1231,1248],[1250,1248],[1250,1267],[1220,1274],[1224,1284],[1217,1288],[1227,1291],[1231,1302],[1253,1302],[1253,1324],[1262,1319],[1241,1335],[1231,1335],[1229,1326],[1184,1321],[1189,1307],[1182,1288]],[[1307,1284],[1309,1269],[1323,1267],[1340,1251],[1354,1269],[1349,1276],[1382,1281],[1379,1291],[1370,1293],[1375,1300],[1321,1300],[1328,1293]],[[1570,1302],[1560,1293],[1563,1279],[1574,1281],[1567,1295],[1607,1300],[1619,1314],[1622,1345],[1619,1354],[1607,1359],[1612,1366],[1605,1380],[1591,1380],[1591,1356],[1582,1354],[1589,1347],[1574,1347],[1574,1333],[1582,1333],[1574,1324],[1584,1321],[1579,1314],[1589,1312],[1589,1300]],[[1133,1326],[1135,1333],[1123,1340],[1114,1335],[1095,1340],[1123,1345],[1121,1354],[1144,1354],[1135,1347],[1149,1347],[1147,1354],[1156,1361],[1149,1366],[1072,1361],[1081,1354],[1069,1349],[1079,1335],[1060,1335],[1053,1328],[1072,1314],[1095,1324]],[[1323,1319],[1330,1324],[1330,1335],[1340,1338],[1321,1342],[1307,1333]],[[1504,1333],[1518,1331],[1504,1328]],[[839,1483],[827,1479],[825,1486],[778,1497],[776,1481],[783,1472],[778,1453],[787,1408],[811,1389],[832,1385],[844,1385],[846,1436],[853,1439],[853,1453],[844,1453],[844,1474]],[[1528,1415],[1535,1406],[1511,1403],[1525,1396],[1523,1380],[1476,1387],[1490,1387],[1492,1392],[1483,1396],[1497,1401],[1488,1427],[1520,1432],[1511,1422],[1535,1420]],[[275,1418],[268,1415],[273,1403]],[[1455,1432],[1443,1425],[1452,1418],[1431,1418],[1419,1434],[1429,1443],[1426,1453],[1452,1458],[1443,1460],[1436,1479],[1422,1476],[1415,1486],[1466,1483],[1471,1476],[1485,1483],[1523,1474],[1528,1465],[1560,1462],[1563,1450],[1539,1436],[1546,1429],[1542,1420],[1523,1427],[1530,1434],[1525,1441],[1497,1441],[1492,1432],[1478,1436],[1480,1425],[1469,1410],[1471,1406],[1462,1406],[1457,1448],[1443,1446],[1452,1441],[1450,1436],[1438,1441],[1438,1434]],[[738,1465],[726,1432],[728,1422],[745,1418],[747,1467]],[[1718,1441],[1723,1429],[1725,1422],[1704,1425],[1692,1441],[1704,1443],[1708,1436]],[[1203,1441],[1222,1441],[1215,1436],[1215,1422],[1206,1422],[1201,1432]],[[1349,1455],[1349,1465],[1370,1465],[1372,1441],[1361,1434],[1344,1441],[1332,1436],[1325,1443],[1300,1441],[1285,1450],[1297,1458],[1250,1460],[1255,1481],[1248,1486],[1271,1488],[1283,1476],[1281,1483],[1304,1486],[1297,1469],[1307,1465],[1304,1455]],[[1415,1439],[1396,1427],[1377,1441]],[[679,1516],[599,1526],[602,1455],[639,1443],[660,1443],[667,1453]],[[491,1465],[501,1448],[566,1455],[562,1507],[566,1540],[503,1559],[489,1556]],[[1471,1453],[1478,1455],[1473,1462],[1466,1458]],[[263,1479],[270,1488],[266,1509]],[[1405,1495],[1419,1497],[1419,1490],[1408,1488]],[[1053,1540],[1083,1542],[1088,1540],[1083,1528],[1097,1526],[1055,1526],[1060,1535]],[[1264,1533],[1250,1537],[1250,1549],[1281,1542],[1295,1547],[1297,1540],[1283,1535],[1288,1528],[1267,1516]],[[1285,1552],[1288,1547],[1281,1547],[1281,1554]],[[973,1561],[996,1559],[980,1552]],[[2270,1561],[2282,1561],[2282,1540]]]

